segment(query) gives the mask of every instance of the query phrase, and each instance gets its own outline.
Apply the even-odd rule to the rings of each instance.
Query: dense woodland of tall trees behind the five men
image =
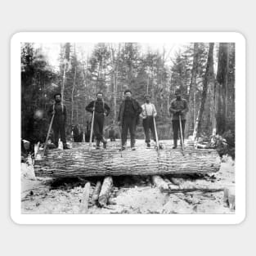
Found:
[[[176,88],[189,104],[186,137],[235,134],[235,44],[189,43],[170,56],[164,48],[141,50],[140,43],[97,43],[84,54],[75,43],[60,47],[59,66],[34,43],[21,44],[21,136],[43,141],[53,95],[61,92],[67,106],[67,133],[73,124],[85,127],[91,115],[85,106],[103,92],[111,108],[106,125],[116,124],[124,90],[141,104],[146,92],[158,111],[159,139],[172,137],[168,115]],[[141,124],[137,137],[143,138]]]

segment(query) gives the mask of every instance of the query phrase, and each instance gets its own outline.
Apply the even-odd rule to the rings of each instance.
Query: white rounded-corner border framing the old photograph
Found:
[[[236,211],[233,214],[22,214],[20,43],[236,43]],[[11,219],[17,224],[238,224],[245,220],[245,37],[237,32],[20,32],[11,38]]]

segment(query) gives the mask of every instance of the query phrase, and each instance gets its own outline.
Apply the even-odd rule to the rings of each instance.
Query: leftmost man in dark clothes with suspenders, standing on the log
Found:
[[[56,93],[54,95],[55,103],[50,106],[48,110],[48,115],[54,115],[52,121],[52,130],[54,135],[54,145],[56,147],[59,146],[59,134],[61,134],[61,141],[63,143],[63,149],[66,150],[69,147],[66,144],[65,139],[65,123],[67,117],[66,107],[63,103],[61,103],[61,93]]]

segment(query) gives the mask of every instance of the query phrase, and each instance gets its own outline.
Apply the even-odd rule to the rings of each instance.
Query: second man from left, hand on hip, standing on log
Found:
[[[100,142],[102,141],[103,147],[106,148],[106,139],[103,137],[103,127],[105,116],[110,114],[110,107],[103,100],[103,93],[97,92],[97,100],[91,101],[85,108],[89,112],[94,112],[93,132],[96,137],[96,148],[100,149]]]

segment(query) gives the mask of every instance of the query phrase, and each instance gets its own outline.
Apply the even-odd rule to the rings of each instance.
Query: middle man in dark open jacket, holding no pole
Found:
[[[131,136],[131,148],[135,150],[135,130],[136,125],[139,121],[139,115],[141,114],[140,104],[132,98],[132,92],[130,90],[124,91],[125,100],[122,101],[119,108],[118,122],[122,128],[122,147],[121,150],[125,149],[128,129]]]

